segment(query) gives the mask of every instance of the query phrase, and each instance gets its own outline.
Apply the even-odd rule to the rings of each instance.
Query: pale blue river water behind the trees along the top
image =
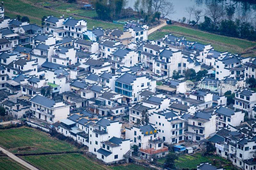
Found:
[[[195,5],[196,8],[206,9],[207,5],[209,4],[216,4],[218,3],[223,10],[225,10],[225,6],[229,4],[235,4],[236,11],[234,18],[237,17],[246,17],[246,18],[256,18],[256,0],[246,1],[235,1],[235,0],[168,0],[174,5],[174,9],[176,13],[167,16],[166,18],[176,20],[186,17],[189,19],[189,14],[185,11],[185,8],[188,6]],[[128,0],[127,8],[131,7],[133,8],[135,0]],[[194,19],[193,16],[191,16],[191,20]],[[203,21],[204,17],[201,17],[200,21]]]

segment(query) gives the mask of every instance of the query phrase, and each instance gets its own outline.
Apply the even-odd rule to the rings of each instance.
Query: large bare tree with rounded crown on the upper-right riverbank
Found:
[[[212,19],[213,26],[220,23],[222,17],[225,15],[225,11],[222,9],[222,6],[218,4],[209,4],[205,9],[205,13]]]

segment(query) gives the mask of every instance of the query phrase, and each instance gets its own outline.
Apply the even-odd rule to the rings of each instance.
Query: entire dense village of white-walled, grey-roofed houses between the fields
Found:
[[[106,164],[127,162],[134,145],[151,160],[168,154],[166,144],[207,140],[234,165],[255,169],[256,92],[246,83],[256,76],[255,59],[184,36],[148,41],[148,26],[137,21],[123,31],[90,30],[83,19],[48,16],[42,28],[0,10],[6,115],[51,124]],[[190,86],[188,69],[208,73]],[[228,91],[235,97],[227,106]],[[115,121],[122,115],[129,123]]]

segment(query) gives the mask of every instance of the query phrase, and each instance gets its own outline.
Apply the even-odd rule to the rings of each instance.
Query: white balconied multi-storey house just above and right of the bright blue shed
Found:
[[[188,140],[199,141],[206,139],[216,131],[216,114],[197,112],[188,118]],[[211,128],[209,128],[211,127]]]

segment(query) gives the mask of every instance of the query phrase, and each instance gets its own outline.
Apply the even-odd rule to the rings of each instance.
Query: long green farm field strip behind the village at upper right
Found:
[[[211,43],[215,50],[220,52],[224,52],[228,50],[232,54],[241,53],[247,48],[252,48],[256,46],[256,42],[253,42],[253,41],[246,41],[242,39],[236,39],[236,38],[216,35],[212,33],[205,33],[202,31],[185,28],[182,26],[176,26],[176,25],[164,26],[163,31],[164,32],[170,31],[171,33],[176,34],[178,36],[184,35],[188,41],[194,40],[203,44]],[[252,56],[254,55],[252,54]]]

